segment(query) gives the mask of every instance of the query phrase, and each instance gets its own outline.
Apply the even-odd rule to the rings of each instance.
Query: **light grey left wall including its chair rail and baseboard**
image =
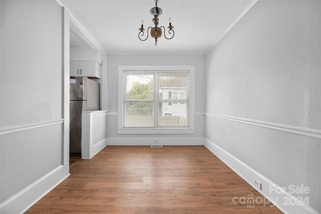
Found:
[[[69,173],[63,21],[53,0],[1,1],[2,213],[22,212]]]

